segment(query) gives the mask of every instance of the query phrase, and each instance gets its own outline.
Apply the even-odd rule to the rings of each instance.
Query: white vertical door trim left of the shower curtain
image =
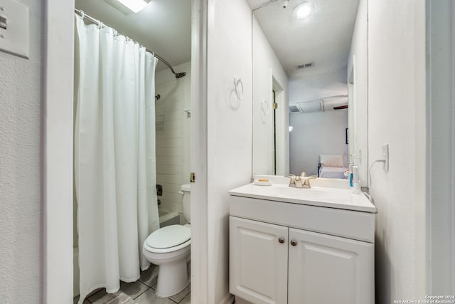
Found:
[[[74,0],[45,0],[43,15],[41,303],[71,303]]]

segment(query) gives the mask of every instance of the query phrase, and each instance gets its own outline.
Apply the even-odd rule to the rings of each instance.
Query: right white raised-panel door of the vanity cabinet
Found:
[[[289,229],[289,304],[374,303],[374,245]]]

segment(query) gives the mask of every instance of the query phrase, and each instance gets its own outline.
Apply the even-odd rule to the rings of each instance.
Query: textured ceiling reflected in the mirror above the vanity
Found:
[[[267,1],[247,0],[255,8]],[[313,14],[294,21],[292,10],[305,1]],[[255,10],[255,17],[289,77],[289,103],[347,95],[347,65],[359,0],[282,0]],[[314,67],[296,70],[296,65]],[[341,100],[346,104],[346,98]]]

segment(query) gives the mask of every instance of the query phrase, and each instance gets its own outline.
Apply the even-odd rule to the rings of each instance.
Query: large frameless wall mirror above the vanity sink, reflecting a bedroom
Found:
[[[366,1],[248,0],[253,175],[339,178],[353,162],[366,185]]]

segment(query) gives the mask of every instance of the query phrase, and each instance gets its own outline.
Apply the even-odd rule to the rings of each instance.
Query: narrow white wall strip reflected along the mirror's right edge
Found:
[[[353,79],[353,105],[350,105],[350,154],[359,167],[362,186],[367,186],[368,174],[368,11],[367,0],[360,0],[350,45],[348,81]],[[355,58],[355,63],[353,58]],[[353,73],[354,75],[351,75]],[[351,77],[352,76],[352,77]],[[352,145],[351,145],[352,144]],[[358,158],[360,157],[360,158]]]

